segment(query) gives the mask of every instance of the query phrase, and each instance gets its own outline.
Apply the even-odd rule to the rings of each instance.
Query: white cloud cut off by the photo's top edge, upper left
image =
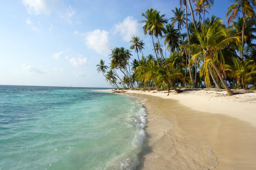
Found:
[[[22,0],[23,4],[28,10],[28,13],[31,14],[50,14],[51,13],[51,5],[54,4],[54,1],[49,0]]]

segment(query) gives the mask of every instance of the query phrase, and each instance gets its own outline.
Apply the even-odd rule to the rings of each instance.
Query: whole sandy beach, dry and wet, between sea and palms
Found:
[[[137,169],[255,169],[256,92],[185,90],[124,93],[148,99]]]

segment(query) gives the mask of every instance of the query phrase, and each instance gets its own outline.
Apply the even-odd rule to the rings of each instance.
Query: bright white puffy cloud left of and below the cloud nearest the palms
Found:
[[[75,34],[78,33],[75,32]],[[107,31],[100,29],[85,33],[85,45],[102,56],[108,56],[110,53],[108,34]]]

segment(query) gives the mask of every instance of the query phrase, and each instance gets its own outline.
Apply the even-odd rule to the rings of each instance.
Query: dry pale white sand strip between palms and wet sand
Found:
[[[184,89],[183,89],[184,90]],[[186,90],[186,89],[185,89]],[[167,96],[167,91],[140,91],[129,90],[125,93],[140,93],[165,99],[178,100],[180,104],[186,105],[193,110],[225,114],[244,120],[256,127],[256,92],[235,90],[236,95],[227,96],[226,90],[189,90],[177,94],[172,90]]]

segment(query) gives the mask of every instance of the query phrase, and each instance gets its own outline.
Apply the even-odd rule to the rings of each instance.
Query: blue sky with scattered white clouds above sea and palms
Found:
[[[231,4],[215,0],[207,16],[227,23]],[[129,49],[133,36],[144,41],[144,56],[154,54],[151,37],[143,33],[141,13],[153,8],[169,19],[179,6],[179,0],[3,0],[0,84],[111,87],[96,70],[100,59],[109,66],[111,49]],[[138,58],[134,50],[132,55]]]

